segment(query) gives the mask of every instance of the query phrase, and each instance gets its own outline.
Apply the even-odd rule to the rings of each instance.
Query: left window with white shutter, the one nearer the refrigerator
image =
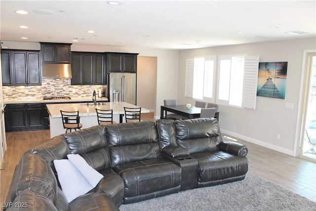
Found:
[[[185,96],[214,102],[215,56],[187,59]]]

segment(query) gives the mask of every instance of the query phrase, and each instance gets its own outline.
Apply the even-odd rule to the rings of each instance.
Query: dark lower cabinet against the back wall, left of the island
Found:
[[[48,115],[45,107],[44,103],[8,104],[4,113],[5,131],[49,129],[45,124]]]

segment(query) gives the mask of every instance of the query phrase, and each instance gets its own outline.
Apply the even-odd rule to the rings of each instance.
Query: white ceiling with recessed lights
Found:
[[[110,5],[107,0],[0,0],[0,39],[191,49],[316,38],[315,0],[120,2]],[[28,14],[15,13],[20,9]],[[21,25],[29,28],[21,29]],[[87,33],[89,30],[95,33]],[[286,33],[292,31],[308,33]]]

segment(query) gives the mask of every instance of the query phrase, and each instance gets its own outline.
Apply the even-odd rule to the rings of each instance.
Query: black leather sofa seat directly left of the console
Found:
[[[115,166],[113,169],[124,180],[124,197],[148,194],[178,186],[180,189],[181,168],[164,159],[135,161]]]

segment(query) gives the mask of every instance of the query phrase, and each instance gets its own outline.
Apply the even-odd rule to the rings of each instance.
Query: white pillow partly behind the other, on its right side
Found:
[[[92,187],[95,187],[103,178],[103,175],[93,169],[79,154],[69,154],[67,157]]]

